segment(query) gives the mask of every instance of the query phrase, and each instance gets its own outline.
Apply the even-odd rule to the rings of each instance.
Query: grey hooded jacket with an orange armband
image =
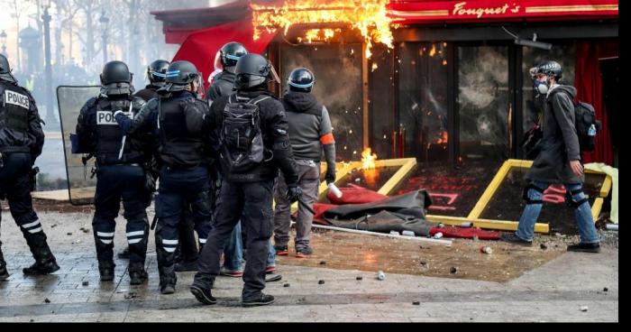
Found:
[[[294,158],[320,161],[325,148],[327,163],[335,164],[335,142],[331,118],[325,106],[306,92],[289,91],[283,97],[287,111],[289,140]]]

